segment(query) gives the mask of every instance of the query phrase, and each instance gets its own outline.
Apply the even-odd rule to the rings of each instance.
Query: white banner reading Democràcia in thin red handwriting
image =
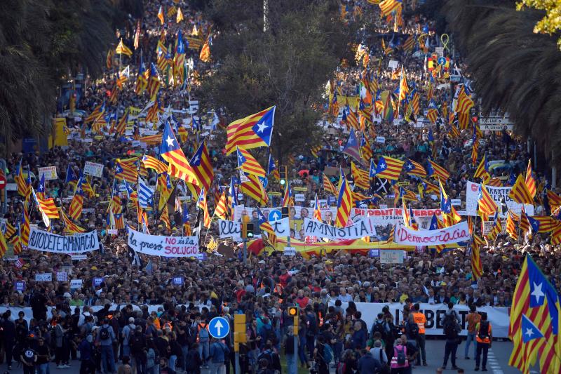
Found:
[[[403,225],[396,227],[393,234],[393,241],[406,246],[436,246],[438,244],[458,243],[471,238],[468,229],[468,222],[460,222],[454,226],[445,227],[438,230],[417,231],[408,229]]]

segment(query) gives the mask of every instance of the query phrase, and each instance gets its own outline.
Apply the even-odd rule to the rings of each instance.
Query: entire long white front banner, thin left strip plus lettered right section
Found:
[[[332,304],[332,303],[330,303]],[[391,314],[394,316],[394,323],[396,325],[400,323],[403,319],[402,310],[403,304],[399,302],[391,302],[385,304],[378,304],[374,302],[356,302],[355,303],[358,311],[360,311],[363,316],[362,319],[368,325],[368,330],[372,328],[372,324],[377,318],[378,313],[381,312],[381,309],[388,305],[390,308]],[[421,305],[421,312],[423,312],[426,316],[426,335],[443,335],[442,328],[444,323],[445,313],[448,309],[447,305],[445,304],[425,304],[422,303]],[[109,308],[110,310],[115,310],[118,305],[111,305]],[[346,309],[348,304],[346,302],[343,303],[343,309]],[[121,305],[121,309],[123,309],[125,305]],[[162,305],[148,305],[148,311],[157,311],[158,308],[162,307]],[[47,317],[51,316],[50,309],[53,307],[47,307]],[[72,313],[74,313],[75,307],[70,307]],[[12,316],[14,319],[18,318],[18,313],[23,311],[25,313],[25,319],[29,322],[30,319],[33,318],[33,312],[30,307],[0,307],[0,314],[4,314],[6,310],[10,309],[12,312]],[[101,306],[92,307],[92,309],[97,312],[98,310],[102,309]],[[140,310],[140,307],[137,305],[133,305],[133,309]],[[487,319],[491,322],[493,327],[493,336],[494,338],[508,338],[508,324],[509,324],[509,316],[507,307],[479,307],[477,310],[478,312],[485,312],[487,313]],[[466,321],[466,317],[469,313],[469,308],[466,305],[455,305],[454,310],[456,311],[459,321],[461,324],[461,333],[460,335],[467,334],[467,326],[468,323]]]

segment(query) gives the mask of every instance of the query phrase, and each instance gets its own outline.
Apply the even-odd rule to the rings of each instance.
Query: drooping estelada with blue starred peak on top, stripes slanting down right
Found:
[[[187,183],[191,183],[191,185],[199,186],[193,168],[191,168],[189,161],[185,158],[185,154],[179,142],[177,142],[177,138],[175,138],[169,121],[165,122],[160,154],[165,161],[168,161],[168,174],[170,176],[184,180]]]

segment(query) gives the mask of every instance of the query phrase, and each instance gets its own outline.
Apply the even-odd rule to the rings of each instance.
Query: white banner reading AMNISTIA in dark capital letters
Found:
[[[376,236],[376,227],[370,217],[354,222],[349,227],[334,227],[323,222],[304,218],[304,235],[327,239],[358,239],[365,236]]]

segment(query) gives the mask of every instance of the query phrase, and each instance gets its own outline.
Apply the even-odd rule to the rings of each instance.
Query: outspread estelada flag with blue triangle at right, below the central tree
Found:
[[[228,125],[226,153],[241,149],[269,147],[273,133],[276,107],[238,119]]]

